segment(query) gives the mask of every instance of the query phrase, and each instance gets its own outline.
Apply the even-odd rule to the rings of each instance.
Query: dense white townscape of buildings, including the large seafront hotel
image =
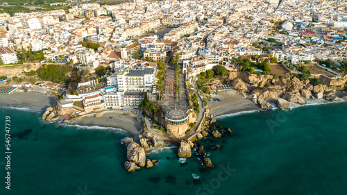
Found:
[[[173,58],[182,65],[186,79],[216,65],[254,72],[258,69],[247,69],[242,60],[264,58],[290,71],[302,71],[299,65],[312,62],[344,76],[340,63],[347,58],[347,1],[134,1],[69,6],[69,10],[0,14],[3,65],[28,62],[23,53],[34,56],[30,58],[43,53],[31,61],[67,64],[87,72],[66,92],[58,84],[41,84],[64,94],[59,101],[62,108],[73,107],[74,101],[82,101],[85,112],[137,108],[144,94],[158,93],[159,66]],[[105,69],[108,74],[98,76]],[[266,67],[260,71],[270,73]]]

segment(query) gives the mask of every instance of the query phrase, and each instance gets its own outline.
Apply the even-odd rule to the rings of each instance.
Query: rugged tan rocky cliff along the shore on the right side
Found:
[[[248,72],[230,72],[230,83],[240,93],[253,94],[253,102],[262,109],[271,108],[269,102],[279,108],[289,109],[290,103],[305,104],[305,99],[326,99],[336,101],[337,91],[345,90],[346,78],[328,78],[311,76],[299,79],[296,76],[270,76],[250,74]],[[344,96],[340,96],[344,98]]]

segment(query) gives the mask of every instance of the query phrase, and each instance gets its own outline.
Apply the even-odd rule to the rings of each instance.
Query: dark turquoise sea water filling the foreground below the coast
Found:
[[[201,141],[214,168],[201,167],[196,156],[179,159],[176,149],[163,149],[148,155],[159,164],[132,173],[124,170],[126,149],[119,140],[127,134],[121,130],[56,129],[57,124],[40,120],[40,111],[0,109],[0,194],[347,192],[347,103],[219,119],[234,136]],[[10,190],[4,183],[6,115],[12,127]],[[221,149],[210,149],[214,144]],[[201,181],[194,182],[194,176]]]

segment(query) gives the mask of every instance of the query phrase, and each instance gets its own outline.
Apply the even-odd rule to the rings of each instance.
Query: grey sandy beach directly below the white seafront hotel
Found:
[[[113,118],[110,119],[109,117]],[[133,137],[137,137],[135,135],[138,135],[139,130],[141,129],[135,117],[124,115],[118,112],[105,113],[102,117],[99,118],[91,116],[83,117],[79,120],[74,119],[74,124],[78,124],[80,126],[103,126],[121,128],[128,131],[131,135],[133,135]]]

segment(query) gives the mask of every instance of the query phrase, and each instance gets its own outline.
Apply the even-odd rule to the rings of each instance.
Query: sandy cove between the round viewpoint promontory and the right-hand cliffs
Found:
[[[214,98],[219,98],[221,101],[214,101]],[[218,95],[212,95],[211,101],[208,101],[208,108],[213,117],[248,110],[261,110],[251,99],[242,98],[235,90],[220,91]]]

